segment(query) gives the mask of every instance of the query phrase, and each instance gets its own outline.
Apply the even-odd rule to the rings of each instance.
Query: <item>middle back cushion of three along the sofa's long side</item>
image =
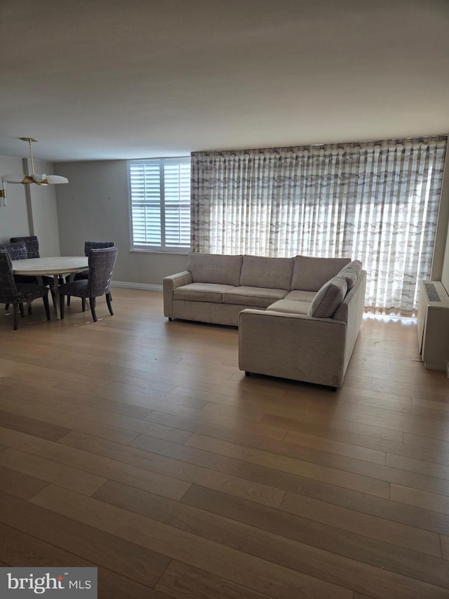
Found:
[[[294,258],[243,256],[240,284],[245,287],[290,290],[294,260]]]

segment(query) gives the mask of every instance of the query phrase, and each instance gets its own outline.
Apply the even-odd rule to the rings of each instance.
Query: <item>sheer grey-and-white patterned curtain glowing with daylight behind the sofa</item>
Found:
[[[192,251],[349,256],[366,306],[414,310],[447,138],[192,153]]]

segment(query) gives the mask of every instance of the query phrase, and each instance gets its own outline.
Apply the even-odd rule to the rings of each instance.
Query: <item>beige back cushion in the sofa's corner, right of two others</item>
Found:
[[[295,256],[291,289],[318,291],[349,262],[351,258]]]

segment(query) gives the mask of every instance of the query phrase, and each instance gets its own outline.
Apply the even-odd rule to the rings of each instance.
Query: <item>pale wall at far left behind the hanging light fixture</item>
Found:
[[[35,161],[36,171],[53,173],[50,162]],[[27,172],[27,161],[0,156],[0,175]],[[41,256],[59,256],[55,185],[6,183],[6,206],[0,205],[0,242],[11,237],[37,235]]]

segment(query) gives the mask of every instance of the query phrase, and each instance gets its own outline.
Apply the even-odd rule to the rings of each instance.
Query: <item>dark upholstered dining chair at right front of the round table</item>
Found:
[[[95,298],[105,295],[107,308],[110,314],[114,315],[111,306],[111,280],[117,251],[116,246],[104,249],[91,249],[88,254],[88,278],[71,281],[58,287],[61,320],[64,318],[64,296],[81,298],[83,312],[86,310],[86,298],[88,298],[93,322],[97,322]]]

